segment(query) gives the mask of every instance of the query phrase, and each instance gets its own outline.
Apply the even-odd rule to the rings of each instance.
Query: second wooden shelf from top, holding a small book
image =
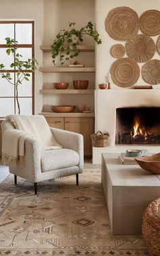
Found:
[[[96,71],[95,67],[40,67],[39,71],[43,73],[60,73],[60,72],[90,72]]]

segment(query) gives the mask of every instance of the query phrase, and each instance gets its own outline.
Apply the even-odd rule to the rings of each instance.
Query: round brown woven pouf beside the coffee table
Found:
[[[142,235],[152,256],[160,255],[160,197],[149,204],[143,215]]]

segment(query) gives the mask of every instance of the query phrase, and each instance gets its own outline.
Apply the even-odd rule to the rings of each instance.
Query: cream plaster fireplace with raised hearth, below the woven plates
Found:
[[[123,109],[123,110],[122,110]],[[132,114],[128,114],[128,111],[134,112],[139,109],[139,113],[143,112],[144,123],[146,133],[150,135],[145,140],[145,132],[142,133],[140,138],[136,137],[136,140],[130,143],[128,141],[124,143],[118,143],[118,138],[121,131],[126,131],[128,137],[130,136],[130,125],[133,123]],[[122,129],[119,126],[118,120],[120,116],[124,117],[125,114],[119,114],[119,110],[127,112],[127,118],[123,118],[121,121],[125,124],[125,128]],[[120,111],[121,112],[121,111]],[[154,114],[153,114],[154,113]],[[132,119],[131,117],[132,116]],[[148,117],[147,117],[148,116]],[[133,90],[133,89],[117,89],[117,90],[96,90],[95,91],[95,131],[108,131],[110,134],[108,138],[108,144],[104,148],[93,147],[92,150],[92,162],[101,163],[102,153],[125,153],[126,149],[147,149],[151,153],[158,153],[160,151],[159,142],[159,116],[160,116],[160,93],[157,89],[152,90]],[[137,119],[140,115],[137,116]],[[141,118],[142,119],[142,118]],[[151,123],[150,123],[151,119]],[[129,128],[128,128],[129,126]],[[119,128],[119,129],[118,129]],[[159,131],[157,131],[159,130]],[[140,131],[140,129],[139,129]],[[138,131],[138,132],[139,132]],[[149,138],[150,137],[150,138]],[[141,140],[140,140],[141,139]],[[140,140],[140,141],[139,141]],[[122,140],[121,140],[122,142]]]

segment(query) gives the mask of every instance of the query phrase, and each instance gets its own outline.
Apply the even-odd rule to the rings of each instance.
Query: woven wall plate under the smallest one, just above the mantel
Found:
[[[111,66],[111,78],[120,87],[134,85],[140,76],[140,68],[136,61],[123,58],[117,59]]]

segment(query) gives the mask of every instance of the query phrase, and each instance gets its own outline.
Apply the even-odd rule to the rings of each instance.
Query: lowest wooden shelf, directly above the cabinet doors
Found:
[[[71,112],[71,113],[56,113],[56,112],[41,112],[39,113],[45,117],[94,117],[94,112]]]

